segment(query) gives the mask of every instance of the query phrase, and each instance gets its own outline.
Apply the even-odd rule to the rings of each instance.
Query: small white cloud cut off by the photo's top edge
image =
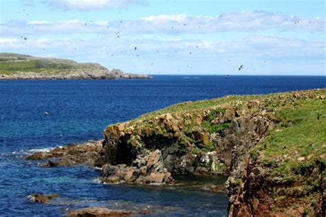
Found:
[[[100,10],[104,8],[121,8],[131,4],[142,4],[144,0],[49,0],[43,1],[52,8],[65,10]]]

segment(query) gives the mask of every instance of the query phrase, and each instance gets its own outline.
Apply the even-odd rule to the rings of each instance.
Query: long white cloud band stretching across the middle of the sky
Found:
[[[308,19],[271,12],[230,12],[222,16],[160,15],[142,19],[119,21],[30,21],[28,23],[0,23],[3,36],[19,34],[94,33],[124,36],[141,34],[216,34],[220,32],[257,32],[274,30],[291,32],[325,32],[325,19]]]

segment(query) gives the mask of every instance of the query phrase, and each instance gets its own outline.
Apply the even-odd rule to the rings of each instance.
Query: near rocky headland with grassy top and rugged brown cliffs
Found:
[[[320,89],[184,102],[110,125],[102,141],[28,159],[91,163],[103,183],[163,185],[174,174],[224,174],[229,216],[323,216],[325,97]]]

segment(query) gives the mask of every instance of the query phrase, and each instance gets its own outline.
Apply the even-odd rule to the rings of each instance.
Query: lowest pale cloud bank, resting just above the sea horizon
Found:
[[[325,73],[324,41],[261,34],[229,41],[140,40],[116,36],[75,40],[28,38],[27,41],[1,38],[0,47],[1,52],[99,62],[109,69],[134,73],[238,73],[239,63],[244,65],[241,73],[254,73],[254,69],[260,73]]]

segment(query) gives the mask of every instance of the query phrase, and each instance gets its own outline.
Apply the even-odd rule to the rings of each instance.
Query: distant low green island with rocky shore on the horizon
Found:
[[[152,78],[148,75],[109,70],[98,63],[78,63],[60,58],[41,58],[23,54],[0,53],[0,80],[64,80]]]

